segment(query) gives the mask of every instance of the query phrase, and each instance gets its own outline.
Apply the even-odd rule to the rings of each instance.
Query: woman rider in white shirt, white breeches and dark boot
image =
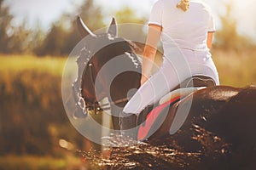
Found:
[[[205,3],[189,0],[154,3],[143,52],[142,86],[121,113],[121,129],[135,127],[137,116],[146,106],[157,102],[188,77],[205,75],[219,84],[210,53],[214,31],[212,13]],[[159,40],[164,49],[163,64],[150,77]]]

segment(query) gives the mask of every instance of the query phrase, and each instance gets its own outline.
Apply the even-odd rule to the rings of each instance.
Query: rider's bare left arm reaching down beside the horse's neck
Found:
[[[141,84],[148,80],[150,71],[154,65],[154,57],[157,51],[157,44],[160,39],[162,27],[157,25],[148,26],[148,37],[143,51],[143,68]]]

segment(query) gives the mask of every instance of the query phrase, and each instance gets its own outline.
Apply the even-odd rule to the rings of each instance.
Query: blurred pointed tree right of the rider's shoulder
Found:
[[[232,16],[232,4],[226,4],[226,13],[220,15],[221,29],[216,32],[215,46],[217,48],[236,49],[250,48],[253,46],[252,41],[249,37],[241,36],[237,32],[237,22]]]

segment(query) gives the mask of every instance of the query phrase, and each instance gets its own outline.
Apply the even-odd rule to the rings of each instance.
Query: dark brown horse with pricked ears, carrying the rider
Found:
[[[140,87],[142,67],[136,54],[137,46],[134,42],[117,37],[114,19],[108,31],[102,34],[92,33],[81,18],[78,18],[77,24],[82,37],[90,37],[90,44],[86,44],[79,55],[78,63],[86,60],[86,65],[83,67],[84,71],[79,65],[80,73],[76,81],[81,81],[81,87],[75,85],[77,82],[73,83],[75,101],[80,112],[86,114],[90,110],[101,111],[99,101],[107,97],[110,101],[113,129],[119,130],[119,113],[135,93],[131,89]],[[96,48],[99,46],[102,48]],[[86,56],[88,54],[91,54],[90,59]],[[112,67],[105,65],[117,56],[121,57],[117,60],[118,65],[114,66],[123,68],[124,71],[109,79]],[[127,97],[127,94],[130,96]],[[187,105],[187,116],[170,134],[173,124],[179,122],[179,112],[183,111],[179,111],[179,108]],[[152,112],[152,108],[141,114],[143,121],[138,125],[139,128],[148,126],[150,111]],[[148,143],[172,143],[187,153],[205,152],[205,160],[209,161],[211,156],[216,158],[211,160],[212,168],[214,163],[221,160],[219,156],[225,156],[226,162],[221,162],[226,167],[252,166],[252,162],[256,161],[256,86],[200,88],[168,103],[157,114],[156,119],[160,125],[150,125],[149,133],[143,134],[143,139],[147,139]],[[206,162],[209,163],[208,161]]]

